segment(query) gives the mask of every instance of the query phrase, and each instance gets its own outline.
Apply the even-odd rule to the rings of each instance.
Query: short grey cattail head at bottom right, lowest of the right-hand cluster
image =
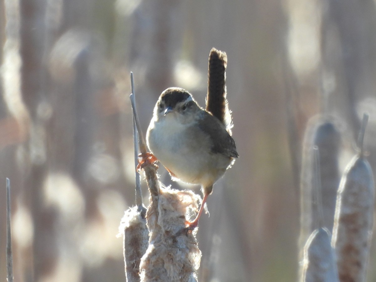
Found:
[[[324,227],[314,230],[303,251],[300,282],[339,282],[331,234]]]

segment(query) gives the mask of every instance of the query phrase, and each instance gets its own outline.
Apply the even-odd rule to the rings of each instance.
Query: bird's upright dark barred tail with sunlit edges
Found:
[[[226,67],[226,53],[212,48],[209,55],[206,111],[218,118],[231,134],[231,114],[226,99]]]

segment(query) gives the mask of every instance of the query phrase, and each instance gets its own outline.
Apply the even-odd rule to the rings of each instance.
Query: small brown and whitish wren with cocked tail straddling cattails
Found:
[[[198,226],[214,183],[239,157],[231,137],[231,115],[226,99],[226,53],[213,48],[209,55],[206,108],[190,92],[179,87],[165,89],[153,110],[146,133],[150,152],[141,162],[159,161],[173,180],[200,184],[203,200],[196,218],[187,228]]]

